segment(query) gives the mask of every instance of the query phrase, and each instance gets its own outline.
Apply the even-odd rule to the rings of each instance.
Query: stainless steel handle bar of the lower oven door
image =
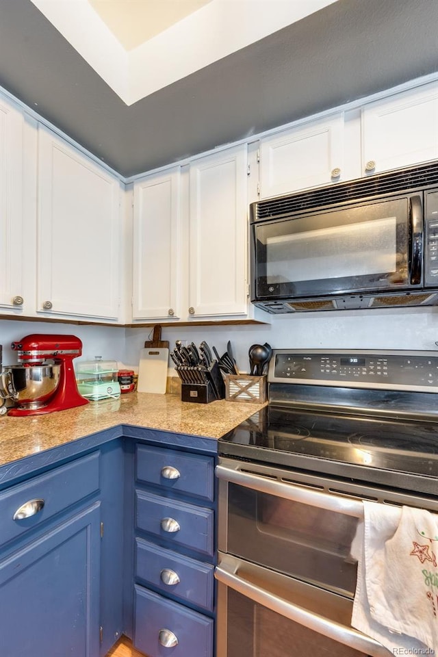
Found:
[[[309,630],[313,630],[313,632],[318,632],[318,634],[333,639],[333,641],[337,641],[337,643],[348,645],[365,655],[371,657],[388,657],[388,650],[370,636],[366,636],[365,634],[362,634],[362,632],[358,632],[353,628],[341,625],[341,623],[324,618],[323,616],[315,614],[304,607],[300,607],[297,604],[289,602],[289,600],[285,600],[283,597],[272,593],[268,590],[269,581],[266,582],[266,584],[268,584],[266,589],[262,589],[257,584],[250,582],[240,575],[239,565],[239,561],[227,554],[227,556],[222,559],[220,565],[216,566],[214,569],[214,576],[218,582],[234,589],[234,591],[244,595],[249,598],[249,600],[253,600],[257,604],[261,604],[263,607],[266,607],[291,621],[295,621],[301,626],[309,628]]]

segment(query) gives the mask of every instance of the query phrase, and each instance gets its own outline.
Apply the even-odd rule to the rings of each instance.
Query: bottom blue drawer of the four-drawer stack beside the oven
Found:
[[[146,655],[212,657],[213,619],[139,586],[135,587],[135,605],[134,645]],[[160,643],[166,630],[169,642],[175,635],[176,645]]]

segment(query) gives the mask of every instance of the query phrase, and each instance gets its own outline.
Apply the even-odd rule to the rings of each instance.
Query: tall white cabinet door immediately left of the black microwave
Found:
[[[190,164],[189,315],[248,312],[246,144]]]

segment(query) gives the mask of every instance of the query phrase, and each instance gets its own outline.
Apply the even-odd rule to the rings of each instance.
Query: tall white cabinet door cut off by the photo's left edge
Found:
[[[23,307],[23,115],[0,96],[0,312]]]

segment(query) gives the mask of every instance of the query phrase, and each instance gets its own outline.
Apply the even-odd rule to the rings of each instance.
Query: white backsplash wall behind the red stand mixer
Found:
[[[10,348],[15,342],[31,333],[60,333],[76,335],[82,341],[80,360],[92,360],[101,356],[105,360],[123,363],[125,359],[125,328],[114,326],[82,326],[76,324],[52,324],[51,322],[16,322],[0,319],[0,344],[3,345],[3,365],[17,362],[16,352]],[[73,363],[77,363],[75,359]]]

